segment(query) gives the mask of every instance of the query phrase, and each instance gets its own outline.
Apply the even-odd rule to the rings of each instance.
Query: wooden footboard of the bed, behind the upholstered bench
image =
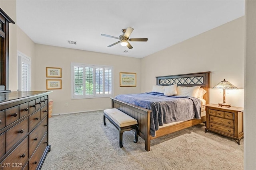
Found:
[[[139,136],[145,140],[145,149],[150,151],[150,112],[151,110],[144,109],[126,102],[121,102],[111,98],[112,108],[117,108],[128,114],[138,121]]]

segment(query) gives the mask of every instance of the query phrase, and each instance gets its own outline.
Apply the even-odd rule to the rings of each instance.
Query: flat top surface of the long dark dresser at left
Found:
[[[6,92],[0,93],[0,106],[4,104],[9,104],[12,102],[18,102],[20,100],[40,96],[40,95],[47,95],[52,91],[27,91],[27,92]]]

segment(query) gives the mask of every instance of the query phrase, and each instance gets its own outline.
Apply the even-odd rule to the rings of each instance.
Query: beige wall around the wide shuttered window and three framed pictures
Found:
[[[52,114],[111,108],[110,98],[71,100],[71,63],[114,66],[114,96],[116,96],[140,92],[140,81],[137,81],[136,87],[119,87],[119,72],[136,72],[137,80],[140,80],[140,61],[141,59],[132,57],[36,44],[35,90],[46,90],[46,67],[60,67],[62,68],[62,78],[60,78],[62,89],[52,90],[53,92],[49,95],[54,101]],[[66,103],[68,106],[65,106]]]

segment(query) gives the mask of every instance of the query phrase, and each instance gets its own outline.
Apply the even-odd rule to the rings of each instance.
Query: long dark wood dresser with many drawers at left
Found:
[[[48,94],[0,93],[0,169],[38,170],[48,143]]]

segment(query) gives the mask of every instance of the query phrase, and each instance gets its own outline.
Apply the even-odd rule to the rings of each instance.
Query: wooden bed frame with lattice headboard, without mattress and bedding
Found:
[[[200,86],[200,88],[206,90],[206,93],[203,96],[205,104],[209,103],[209,83],[210,72],[198,72],[156,77],[156,85],[170,86],[173,84],[177,84],[178,86],[189,87]],[[138,135],[145,140],[145,150],[147,151],[150,151],[150,140],[152,139],[162,137],[164,135],[197,125],[199,123],[206,122],[206,115],[204,111],[204,114],[201,114],[200,119],[178,121],[159,126],[159,129],[156,130],[154,136],[152,136],[150,135],[150,113],[152,112],[152,110],[145,109],[134,104],[129,104],[128,102],[124,102],[116,98],[111,98],[111,101],[112,108],[117,108],[124,113],[130,115],[131,117],[137,119],[139,127]]]

